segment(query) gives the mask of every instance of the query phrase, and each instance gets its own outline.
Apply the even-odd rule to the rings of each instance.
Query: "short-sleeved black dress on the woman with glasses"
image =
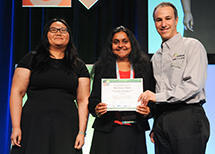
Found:
[[[18,67],[31,69],[27,54]],[[11,154],[74,154],[79,130],[78,110],[74,100],[79,77],[88,77],[85,64],[80,61],[77,74],[67,74],[61,59],[49,60],[50,68],[31,73],[28,99],[22,109],[21,148],[14,146]]]

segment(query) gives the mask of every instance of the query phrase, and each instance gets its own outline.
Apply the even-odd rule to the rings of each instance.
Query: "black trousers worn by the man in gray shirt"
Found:
[[[156,154],[205,153],[210,126],[202,105],[160,105],[160,110],[154,124]]]

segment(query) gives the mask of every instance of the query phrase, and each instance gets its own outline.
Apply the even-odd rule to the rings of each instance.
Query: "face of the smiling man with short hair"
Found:
[[[170,6],[158,8],[154,14],[155,27],[163,42],[169,40],[177,34],[176,26],[178,17],[175,19],[174,10]]]

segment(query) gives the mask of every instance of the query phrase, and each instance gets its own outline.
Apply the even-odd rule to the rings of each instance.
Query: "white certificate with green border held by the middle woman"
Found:
[[[142,78],[101,79],[101,101],[108,111],[135,111],[138,97],[143,92]]]

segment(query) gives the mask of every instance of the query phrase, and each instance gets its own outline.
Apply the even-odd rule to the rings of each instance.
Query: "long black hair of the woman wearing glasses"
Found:
[[[67,47],[64,51],[63,65],[65,66],[65,70],[67,73],[74,72],[79,59],[78,59],[76,48],[73,44],[71,29],[70,29],[69,25],[67,24],[67,22],[61,18],[51,19],[44,26],[41,41],[40,41],[39,45],[35,48],[36,54],[34,55],[34,58],[32,60],[32,65],[31,65],[32,70],[40,72],[40,71],[44,71],[45,69],[47,69],[49,67],[49,60],[50,60],[51,53],[49,52],[50,43],[47,38],[47,33],[49,31],[49,27],[54,22],[61,22],[68,29],[68,33],[69,33],[70,37],[69,37],[69,42],[67,44]]]

